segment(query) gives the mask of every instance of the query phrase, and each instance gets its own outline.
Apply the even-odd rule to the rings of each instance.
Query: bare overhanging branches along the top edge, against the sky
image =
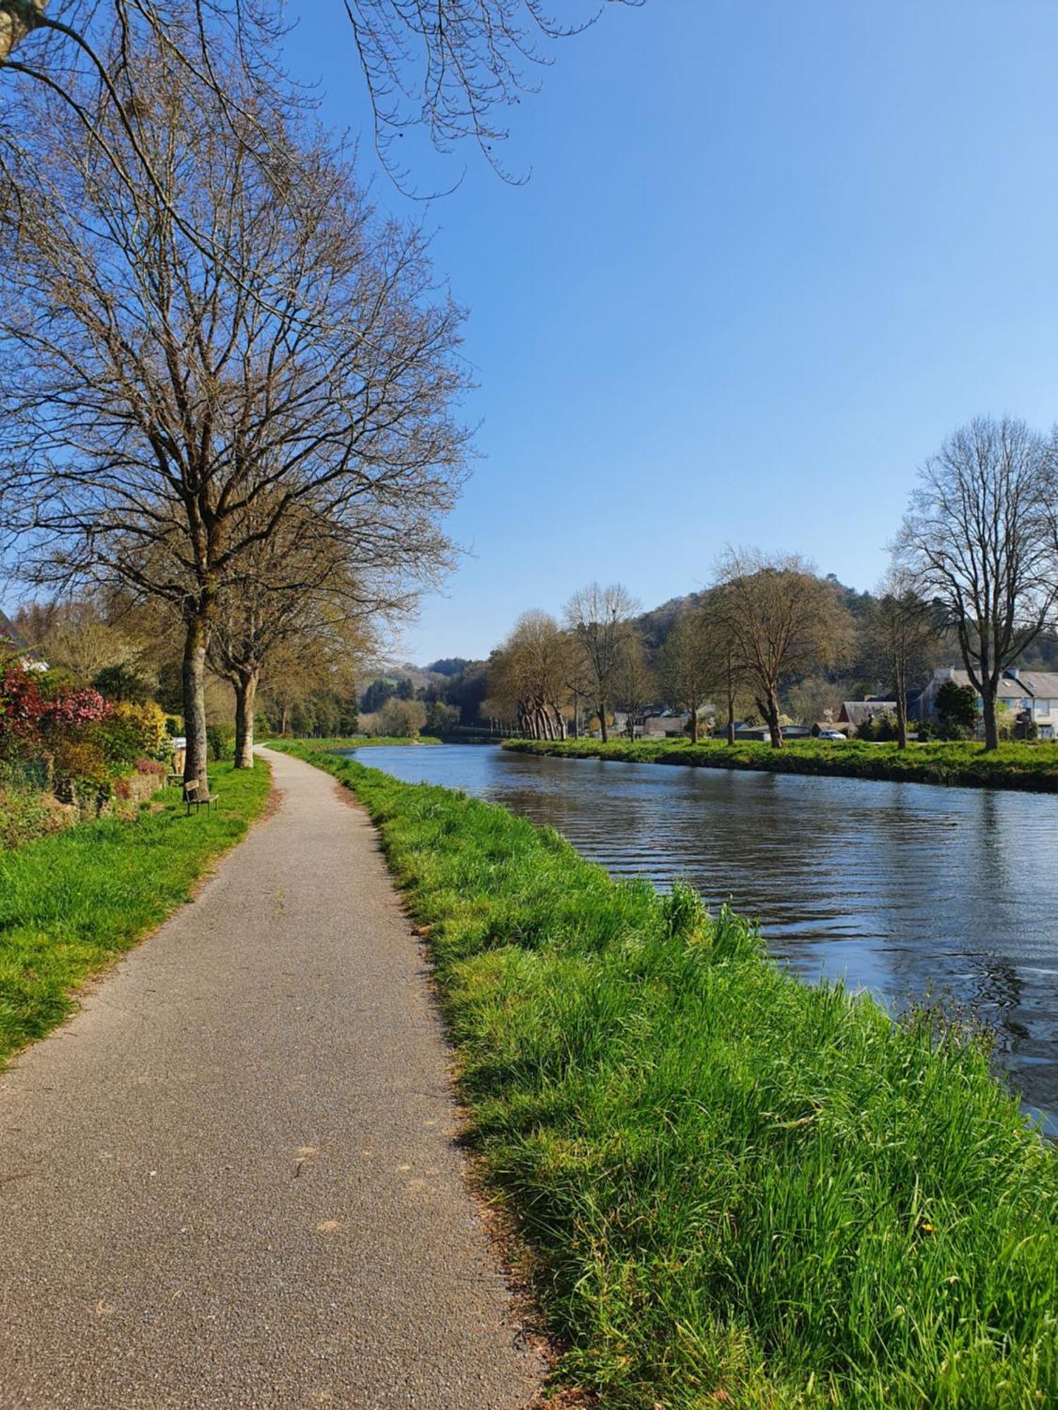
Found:
[[[642,0],[602,0],[642,4]],[[320,0],[313,0],[313,7]],[[566,23],[543,0],[329,0],[350,24],[350,52],[371,103],[375,147],[398,180],[399,138],[422,127],[439,151],[468,138],[499,168],[502,113],[530,92],[528,73],[549,62],[552,42],[588,28],[602,4],[577,0]],[[150,31],[193,82],[236,62],[278,80],[281,0],[0,0],[0,65],[52,86],[87,114],[83,79],[111,82],[137,35]],[[568,8],[568,6],[567,6]],[[306,23],[315,18],[306,16]],[[82,70],[79,83],[71,82]],[[284,86],[282,83],[279,86]]]

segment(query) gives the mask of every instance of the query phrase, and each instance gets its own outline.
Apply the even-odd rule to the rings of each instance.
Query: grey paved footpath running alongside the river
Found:
[[[539,1387],[374,829],[268,757],[278,814],[0,1077],[4,1410]]]

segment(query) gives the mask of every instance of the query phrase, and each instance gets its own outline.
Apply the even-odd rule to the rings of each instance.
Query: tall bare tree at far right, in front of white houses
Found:
[[[944,605],[996,749],[1003,671],[1040,634],[1058,598],[1050,457],[1024,422],[978,417],[918,471],[897,560]]]

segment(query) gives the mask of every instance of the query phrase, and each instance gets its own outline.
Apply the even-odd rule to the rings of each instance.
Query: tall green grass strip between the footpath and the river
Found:
[[[309,753],[430,926],[470,1139],[608,1410],[1058,1403],[1058,1152],[978,1039],[807,986],[688,890]]]

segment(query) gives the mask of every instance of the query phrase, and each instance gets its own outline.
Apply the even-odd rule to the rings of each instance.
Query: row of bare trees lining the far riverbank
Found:
[[[858,619],[835,580],[759,550],[729,550],[653,651],[619,585],[577,592],[561,625],[526,612],[494,653],[487,712],[532,737],[561,739],[587,701],[605,739],[615,708],[633,721],[663,701],[688,713],[697,739],[701,706],[712,701],[732,742],[736,712],[752,709],[782,747],[783,697],[805,678],[855,667],[892,697],[906,747],[908,695],[954,639],[995,749],[1003,673],[1055,625],[1057,444],[1010,417],[949,436],[921,468],[890,574]]]

